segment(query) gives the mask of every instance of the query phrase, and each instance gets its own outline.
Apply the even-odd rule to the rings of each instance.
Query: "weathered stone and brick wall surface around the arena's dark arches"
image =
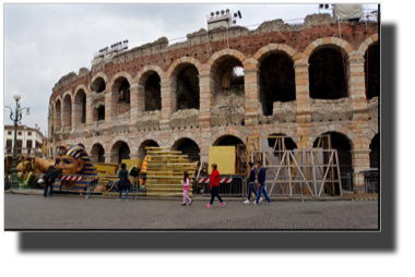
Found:
[[[342,38],[337,23],[328,14],[309,15],[303,25],[295,26],[275,20],[256,31],[238,26],[230,27],[228,34],[223,28],[201,29],[189,34],[185,43],[168,46],[164,37],[94,59],[91,72],[72,72],[52,88],[49,131],[54,127],[55,146],[82,144],[91,155],[100,144],[106,161],[117,162],[121,142],[130,147],[131,157],[143,157],[149,141],[173,147],[177,141],[190,138],[199,146],[201,159],[208,160],[209,146],[225,135],[247,143],[247,136],[259,135],[262,130],[264,134],[285,134],[299,146],[303,135],[312,145],[317,136],[336,132],[351,144],[354,171],[369,168],[369,145],[378,133],[378,99],[366,98],[364,57],[370,45],[378,44],[378,23],[369,22],[367,27],[365,23],[340,25]],[[310,98],[309,58],[328,48],[344,55],[347,98]],[[264,117],[260,67],[275,53],[285,55],[293,63],[295,100],[274,103],[273,115]],[[244,68],[244,84],[238,89],[220,89],[218,76],[227,69],[224,64]],[[185,89],[178,85],[178,75],[187,67],[198,72],[198,82],[192,82],[199,83],[199,110],[178,110],[177,89]],[[162,109],[146,111],[146,80],[153,74],[161,80]],[[120,86],[126,80],[130,99],[121,104]],[[86,95],[86,115],[82,115],[80,91]],[[105,106],[105,120],[97,121],[94,112],[98,106]]]

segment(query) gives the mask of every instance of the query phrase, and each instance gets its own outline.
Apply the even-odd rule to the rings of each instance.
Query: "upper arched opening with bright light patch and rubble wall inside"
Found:
[[[242,63],[225,56],[213,71],[212,125],[241,125],[245,121],[245,74]],[[216,69],[214,69],[216,68]]]

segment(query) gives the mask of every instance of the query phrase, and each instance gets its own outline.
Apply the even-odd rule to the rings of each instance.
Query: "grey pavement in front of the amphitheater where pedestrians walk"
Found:
[[[209,198],[129,200],[4,194],[4,230],[13,229],[378,229],[378,201],[274,201],[254,206]]]

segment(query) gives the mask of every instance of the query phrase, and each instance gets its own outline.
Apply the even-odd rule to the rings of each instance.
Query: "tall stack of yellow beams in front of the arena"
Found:
[[[147,152],[146,195],[181,196],[183,172],[188,171],[190,182],[195,178],[198,162],[190,162],[187,155],[166,147],[145,147]],[[189,196],[192,196],[190,184]]]

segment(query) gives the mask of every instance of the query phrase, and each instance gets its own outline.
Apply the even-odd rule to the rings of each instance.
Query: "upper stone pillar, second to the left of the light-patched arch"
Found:
[[[162,79],[162,120],[159,128],[162,131],[169,129],[170,116],[177,109],[176,88],[177,83],[175,81]]]

